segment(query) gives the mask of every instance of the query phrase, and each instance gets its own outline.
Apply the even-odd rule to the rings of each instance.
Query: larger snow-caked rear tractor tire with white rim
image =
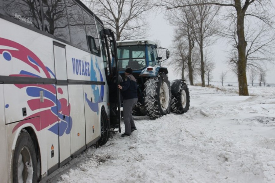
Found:
[[[170,113],[171,87],[166,74],[158,74],[145,82],[145,108],[150,119]]]

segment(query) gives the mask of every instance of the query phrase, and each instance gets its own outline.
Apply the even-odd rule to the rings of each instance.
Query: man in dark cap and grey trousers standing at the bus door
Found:
[[[121,85],[118,85],[122,90],[123,97],[123,120],[125,126],[125,132],[122,137],[130,136],[131,132],[136,130],[134,118],[132,116],[132,110],[138,102],[138,85],[136,78],[132,75],[133,70],[129,67],[125,70],[124,81]]]

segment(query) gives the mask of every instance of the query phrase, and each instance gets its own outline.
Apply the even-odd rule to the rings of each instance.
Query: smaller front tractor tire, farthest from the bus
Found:
[[[182,79],[174,80],[171,83],[171,112],[183,114],[189,110],[190,95],[187,84]]]

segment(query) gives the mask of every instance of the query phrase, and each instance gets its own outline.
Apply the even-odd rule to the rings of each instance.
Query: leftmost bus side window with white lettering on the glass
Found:
[[[0,14],[42,30],[39,2],[35,0],[2,0],[0,1]]]

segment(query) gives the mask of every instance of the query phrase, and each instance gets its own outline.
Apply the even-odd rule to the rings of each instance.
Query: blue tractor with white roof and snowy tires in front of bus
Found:
[[[154,41],[117,41],[119,74],[124,77],[124,71],[130,67],[138,81],[138,103],[133,115],[156,119],[170,112],[182,114],[189,109],[187,84],[182,79],[170,83],[167,68],[161,66],[163,60],[158,56],[159,49],[163,53],[165,50],[166,59],[170,57],[168,49],[158,47]]]

